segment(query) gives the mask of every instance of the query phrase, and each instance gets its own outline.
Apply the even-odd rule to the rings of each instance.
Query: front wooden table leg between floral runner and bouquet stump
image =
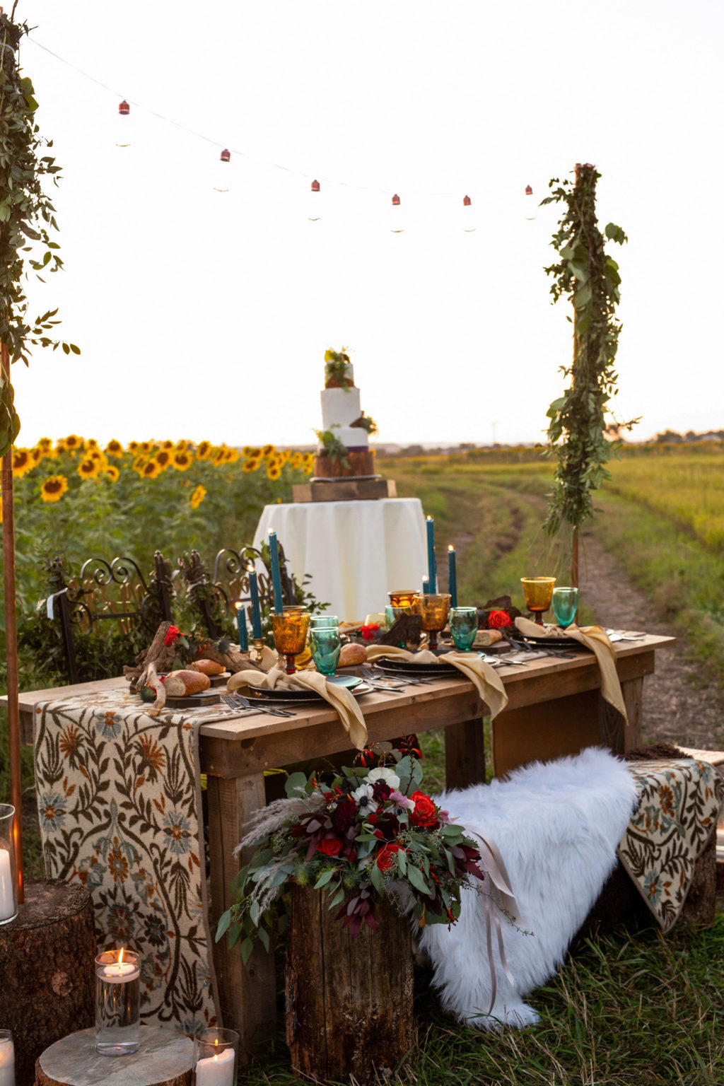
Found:
[[[230,905],[229,883],[240,866],[233,849],[241,841],[242,826],[265,803],[263,773],[229,780],[208,776],[212,937],[219,915]],[[244,1062],[268,1047],[276,1034],[274,952],[267,954],[257,944],[244,965],[239,944],[230,949],[225,936],[214,944],[214,967],[223,1022],[240,1034],[239,1056]]]

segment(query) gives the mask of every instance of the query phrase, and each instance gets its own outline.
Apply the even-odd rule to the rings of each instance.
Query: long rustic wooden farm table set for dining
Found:
[[[493,725],[496,775],[536,758],[550,760],[596,743],[617,754],[637,746],[644,677],[653,673],[656,649],[672,645],[674,640],[649,634],[642,641],[615,644],[627,724],[600,697],[593,653],[500,668],[498,674],[509,700]],[[33,742],[38,702],[124,685],[123,679],[110,679],[21,694],[25,741]],[[402,694],[370,693],[360,706],[370,743],[444,728],[447,786],[466,787],[485,780],[483,706],[469,680],[456,673],[429,685],[406,687]],[[332,710],[295,705],[294,712],[292,718],[258,714],[201,728],[202,771],[208,774],[212,930],[229,905],[229,883],[239,869],[233,849],[242,826],[266,803],[264,771],[339,755],[350,747]],[[274,957],[254,950],[243,967],[239,947],[230,950],[223,939],[215,946],[214,962],[224,1024],[241,1033],[246,1052],[258,1049],[275,1032]]]

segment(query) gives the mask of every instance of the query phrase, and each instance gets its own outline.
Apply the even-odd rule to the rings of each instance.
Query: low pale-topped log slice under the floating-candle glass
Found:
[[[35,1086],[191,1086],[193,1041],[160,1026],[141,1026],[130,1056],[101,1056],[94,1031],[81,1030],[51,1045],[35,1068]]]

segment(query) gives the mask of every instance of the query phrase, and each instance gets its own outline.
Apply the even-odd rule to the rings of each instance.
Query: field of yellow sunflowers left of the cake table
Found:
[[[195,548],[213,565],[221,547],[253,543],[263,507],[291,501],[292,483],[303,482],[313,466],[314,454],[271,444],[241,450],[209,441],[101,445],[72,433],[14,449],[17,616],[26,679],[37,669],[23,660],[22,646],[37,626],[53,555],[75,569],[90,557],[110,561],[124,555],[148,570],[156,548],[169,558]],[[0,627],[4,642],[1,609]],[[4,651],[0,670],[3,666]]]

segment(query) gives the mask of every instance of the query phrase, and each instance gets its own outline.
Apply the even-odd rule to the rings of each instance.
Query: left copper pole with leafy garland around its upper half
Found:
[[[15,624],[15,540],[13,523],[12,446],[21,420],[14,405],[10,380],[11,365],[22,359],[28,364],[28,349],[63,348],[65,354],[79,354],[74,343],[53,340],[48,333],[59,323],[56,310],[27,324],[27,299],[23,287],[25,253],[38,247],[38,260],[30,267],[38,273],[56,272],[63,266],[60,245],[51,241],[50,230],[58,229],[53,205],[42,190],[46,175],[60,171],[55,160],[42,154],[50,141],[38,135],[35,111],[38,103],[33,84],[21,77],[16,53],[28,27],[13,22],[0,8],[0,457],[2,457],[2,553],[5,594],[5,652],[8,657],[8,715],[10,740],[11,797],[16,809],[15,856],[18,901],[23,900],[22,790],[20,761],[20,714],[17,708],[17,640]]]

